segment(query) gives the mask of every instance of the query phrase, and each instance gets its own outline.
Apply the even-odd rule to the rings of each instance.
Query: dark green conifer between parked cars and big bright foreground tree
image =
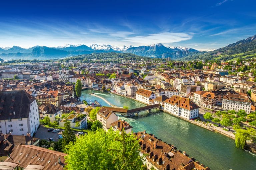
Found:
[[[68,145],[70,142],[76,141],[76,135],[74,133],[74,130],[71,128],[69,121],[65,121],[64,131],[62,132],[62,135],[63,135],[62,148],[63,148],[63,152],[66,153],[67,150],[65,150],[65,146]]]

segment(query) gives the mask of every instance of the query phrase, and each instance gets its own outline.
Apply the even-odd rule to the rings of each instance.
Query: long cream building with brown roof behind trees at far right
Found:
[[[251,105],[252,101],[249,97],[239,94],[228,94],[222,100],[222,109],[225,110],[244,110],[246,113],[250,113]]]

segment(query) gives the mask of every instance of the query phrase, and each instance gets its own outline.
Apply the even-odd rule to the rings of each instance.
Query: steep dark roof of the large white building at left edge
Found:
[[[35,98],[22,90],[0,91],[0,120],[28,118],[33,101]]]

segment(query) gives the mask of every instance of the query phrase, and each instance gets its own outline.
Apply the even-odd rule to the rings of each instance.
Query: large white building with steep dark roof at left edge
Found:
[[[36,99],[25,91],[0,91],[0,132],[26,135],[37,131]]]

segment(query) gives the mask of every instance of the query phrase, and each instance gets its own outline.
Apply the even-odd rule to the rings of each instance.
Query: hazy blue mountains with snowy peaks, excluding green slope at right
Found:
[[[186,47],[165,47],[158,43],[150,46],[112,46],[112,45],[98,45],[92,44],[90,46],[79,44],[58,47],[34,46],[28,49],[19,46],[13,46],[9,49],[0,48],[0,57],[7,59],[57,59],[69,56],[90,54],[94,52],[117,52],[117,53],[133,53],[140,56],[148,57],[172,57],[180,58],[190,52],[197,50]]]

